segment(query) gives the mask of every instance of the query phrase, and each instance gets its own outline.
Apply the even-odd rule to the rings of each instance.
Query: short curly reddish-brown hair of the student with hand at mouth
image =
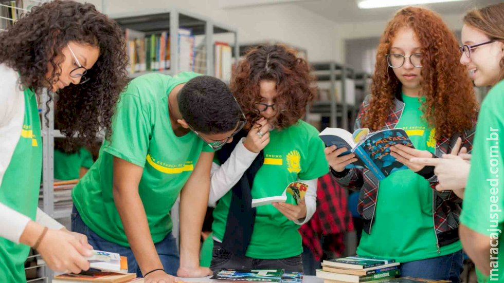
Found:
[[[315,78],[307,61],[284,45],[261,45],[250,49],[231,79],[230,89],[247,117],[246,129],[260,118],[257,103],[261,102],[259,83],[275,81],[276,114],[272,120],[282,129],[295,124],[315,97]]]

